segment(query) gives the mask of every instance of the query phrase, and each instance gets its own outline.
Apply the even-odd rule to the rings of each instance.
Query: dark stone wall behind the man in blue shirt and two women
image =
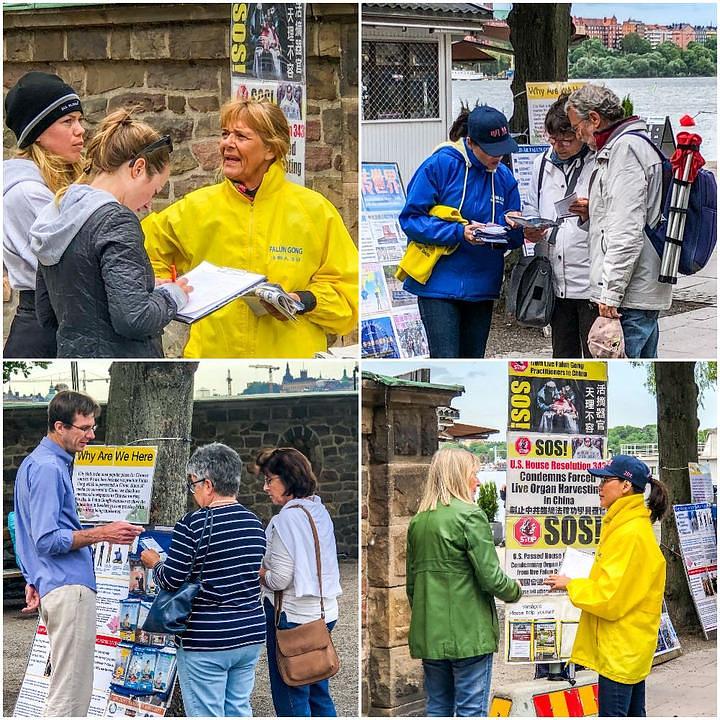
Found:
[[[246,396],[197,400],[192,438],[199,445],[223,442],[245,463],[240,501],[267,522],[273,507],[262,482],[249,472],[257,452],[267,446],[295,447],[305,453],[318,478],[319,495],[335,524],[338,553],[358,554],[358,396],[353,392]],[[25,456],[46,432],[45,405],[6,406],[3,411],[3,527],[13,509],[15,474]],[[100,416],[97,442],[105,437]],[[181,482],[185,478],[180,479]],[[188,509],[194,507],[188,498]],[[14,565],[9,548],[3,560]]]

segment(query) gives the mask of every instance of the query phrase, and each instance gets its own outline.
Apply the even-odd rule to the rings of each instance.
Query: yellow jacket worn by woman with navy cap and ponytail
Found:
[[[644,680],[657,647],[665,558],[642,495],[610,506],[590,577],[571,580],[567,590],[583,611],[571,661],[616,682]]]

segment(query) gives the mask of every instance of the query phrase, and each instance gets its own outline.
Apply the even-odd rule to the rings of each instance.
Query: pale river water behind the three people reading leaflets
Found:
[[[680,131],[680,117],[696,115],[696,132],[703,139],[702,154],[717,161],[717,79],[712,78],[620,78],[593,80],[606,85],[619,97],[630,95],[640,117],[670,116],[673,131]],[[453,80],[453,117],[460,102],[486,103],[512,115],[510,80]],[[700,114],[698,114],[700,113]]]

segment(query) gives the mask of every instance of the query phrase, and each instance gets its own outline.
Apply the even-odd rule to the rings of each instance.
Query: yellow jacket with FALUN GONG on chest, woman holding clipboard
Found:
[[[232,182],[189,193],[142,223],[155,275],[182,275],[203,260],[267,276],[287,292],[309,290],[314,310],[297,322],[257,316],[235,300],[193,323],[185,357],[312,357],[327,335],[357,326],[358,253],[338,211],[285,179],[278,163],[253,201]]]

